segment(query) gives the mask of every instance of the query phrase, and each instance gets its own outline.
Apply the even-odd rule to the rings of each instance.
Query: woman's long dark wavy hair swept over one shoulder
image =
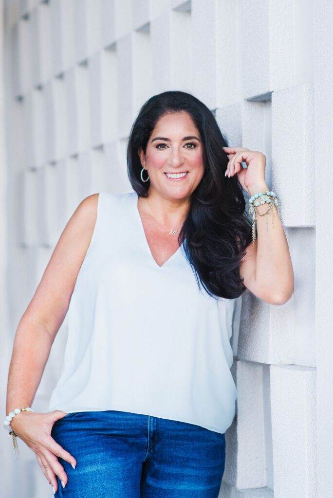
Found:
[[[146,154],[149,138],[166,113],[185,111],[190,115],[203,146],[203,177],[190,198],[187,216],[179,233],[186,258],[196,280],[211,296],[236,298],[245,286],[240,278],[240,260],[252,239],[251,222],[245,215],[245,199],[237,175],[226,178],[227,143],[212,112],[197,98],[169,91],[150,98],[132,126],[127,146],[128,175],[139,196],[147,197],[150,181],[140,178],[138,150]]]

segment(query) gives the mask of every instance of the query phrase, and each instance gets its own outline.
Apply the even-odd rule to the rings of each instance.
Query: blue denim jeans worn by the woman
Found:
[[[199,425],[118,410],[70,413],[52,437],[77,461],[56,497],[217,498],[224,434]]]

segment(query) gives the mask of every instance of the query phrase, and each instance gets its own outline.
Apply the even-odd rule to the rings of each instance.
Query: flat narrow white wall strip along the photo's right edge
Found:
[[[333,233],[332,218],[326,214],[323,186],[331,186],[333,171],[327,160],[327,144],[333,135],[330,110],[333,108],[333,60],[330,57],[333,33],[330,20],[333,3],[314,2],[315,24],[315,165],[316,165],[316,357],[317,357],[317,448],[318,497],[332,494],[333,472],[333,334],[332,334],[332,282],[331,264]],[[326,187],[324,187],[326,188]]]

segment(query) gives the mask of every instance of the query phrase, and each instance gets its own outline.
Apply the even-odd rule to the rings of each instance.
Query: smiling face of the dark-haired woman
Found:
[[[162,116],[149,138],[146,155],[139,149],[150,178],[149,196],[189,199],[203,176],[202,152],[200,134],[189,114],[181,111]]]

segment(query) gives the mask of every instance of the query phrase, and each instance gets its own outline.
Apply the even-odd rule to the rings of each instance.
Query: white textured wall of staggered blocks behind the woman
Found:
[[[295,273],[283,306],[249,291],[240,300],[232,338],[237,411],[226,432],[220,497],[331,496],[333,230],[323,194],[333,183],[332,2],[4,3],[8,332],[1,365],[7,369],[19,319],[79,202],[131,191],[126,144],[141,105],[165,90],[188,91],[215,113],[229,145],[266,155]],[[46,409],[59,376],[66,328],[65,319],[35,410]],[[3,496],[52,495],[34,455],[21,443],[15,462],[9,438],[3,443]]]

